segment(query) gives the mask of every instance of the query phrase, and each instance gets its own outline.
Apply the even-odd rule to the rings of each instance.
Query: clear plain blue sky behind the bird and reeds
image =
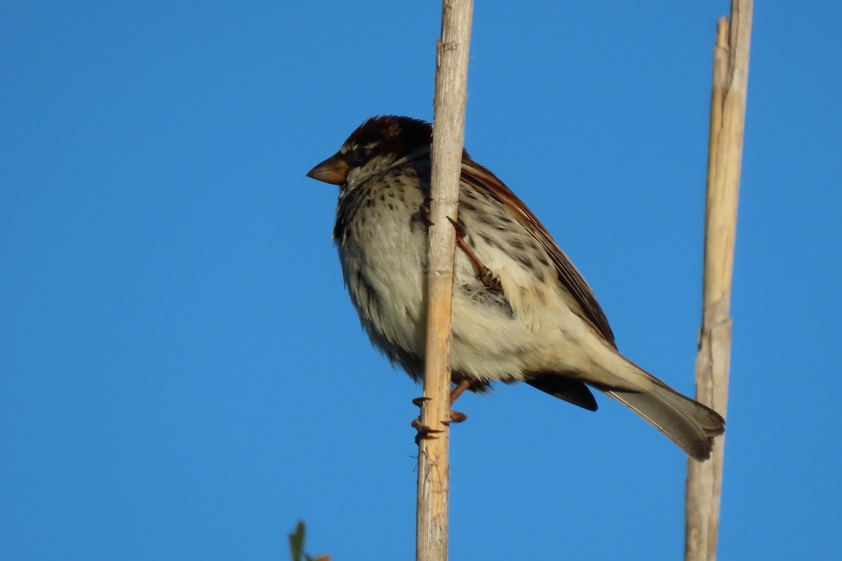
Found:
[[[552,5],[549,5],[552,4]],[[466,146],[693,391],[728,3],[477,3]],[[754,13],[720,558],[829,558],[842,5]],[[0,558],[411,559],[419,394],[370,348],[304,176],[432,117],[440,3],[0,8]],[[460,402],[450,554],[675,559],[685,457],[628,410]]]

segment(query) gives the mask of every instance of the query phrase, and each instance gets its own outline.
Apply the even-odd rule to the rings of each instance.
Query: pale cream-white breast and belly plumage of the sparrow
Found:
[[[349,177],[349,188],[365,187],[365,179]],[[402,202],[397,196],[389,197],[381,191],[366,196],[379,198],[382,194],[396,208],[360,204],[349,236],[337,241],[345,283],[360,320],[377,347],[390,354],[388,347],[394,345],[423,357],[426,235],[421,224],[407,223],[408,214],[416,213],[421,206],[423,195],[417,189],[405,189]],[[469,203],[477,209],[496,204],[476,198]],[[397,205],[405,208],[397,211]],[[499,212],[499,205],[485,210]],[[457,248],[450,357],[455,371],[485,382],[520,380],[528,373],[557,372],[601,386],[650,388],[645,373],[597,336],[593,325],[571,311],[568,306],[571,296],[561,283],[555,280],[537,283],[536,269],[547,279],[557,278],[552,264],[543,266],[534,262],[528,268],[515,261],[480,236],[481,233],[500,236],[500,233],[493,226],[473,220],[475,215],[476,211],[461,211],[459,217],[465,223],[467,241],[502,283],[513,314],[497,306],[477,305],[460,289],[464,284],[482,290],[482,283],[477,278],[476,267]],[[524,242],[531,237],[514,220],[504,236]],[[360,250],[362,244],[365,252]],[[368,302],[369,291],[363,284],[371,288],[370,293],[378,295],[376,305]],[[392,358],[412,370],[412,365],[401,357]]]

